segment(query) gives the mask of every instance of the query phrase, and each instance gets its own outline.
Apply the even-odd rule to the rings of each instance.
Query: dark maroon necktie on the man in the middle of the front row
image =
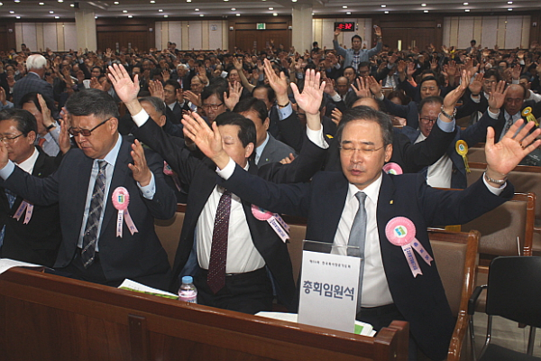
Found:
[[[229,214],[231,213],[231,192],[225,190],[218,203],[210,260],[208,262],[208,275],[206,282],[212,292],[218,292],[225,286],[225,261],[227,260],[227,233],[229,231]]]

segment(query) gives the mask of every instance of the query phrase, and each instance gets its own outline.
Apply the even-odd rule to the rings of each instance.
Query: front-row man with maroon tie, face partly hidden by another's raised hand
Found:
[[[271,310],[272,286],[274,286],[279,301],[289,310],[295,310],[297,292],[288,249],[283,239],[280,239],[275,229],[261,218],[260,210],[252,208],[250,203],[216,185],[217,179],[212,162],[198,159],[186,149],[183,139],[165,134],[158,125],[149,121],[148,114],[137,100],[138,86],[129,78],[125,69],[118,66],[109,69],[118,94],[132,114],[133,121],[139,126],[134,134],[152,149],[163,154],[172,170],[178,172],[182,185],[188,185],[188,208],[175,257],[172,289],[178,286],[177,276],[188,273],[194,276],[200,303],[256,313]],[[314,72],[312,77],[315,77]],[[319,88],[318,79],[315,84]],[[305,89],[307,93],[308,87]],[[321,101],[322,89],[318,94]],[[304,103],[316,102],[310,102],[305,94]],[[194,116],[205,122],[200,116]],[[316,123],[321,128],[318,115]],[[255,125],[252,121],[239,114],[225,112],[216,116],[213,127],[219,129],[225,140],[225,149],[234,161],[248,171],[258,174],[257,166],[249,162],[256,142]],[[320,135],[323,142],[323,135]],[[312,142],[305,143],[310,145]],[[316,145],[313,146],[318,148]],[[307,154],[307,157],[302,158],[303,162],[308,163],[317,159],[321,159],[318,154],[314,156]],[[307,167],[311,171],[300,171],[303,174],[307,173],[307,176],[299,177],[309,179],[321,166],[321,162],[315,163]],[[282,178],[283,174],[280,172],[277,174],[270,171],[266,174],[270,174],[269,179],[272,180],[288,179],[286,176]],[[230,199],[228,200],[230,205],[227,207],[230,214],[226,217],[218,216],[222,214],[220,210],[222,199],[227,198]],[[229,222],[225,229],[220,226],[225,222],[224,219],[228,219]],[[221,262],[224,268],[220,273],[224,278],[215,286],[213,277],[216,273],[212,269],[212,264],[215,245],[218,242],[215,237],[220,235],[227,236],[226,261]],[[190,256],[191,254],[194,256]]]

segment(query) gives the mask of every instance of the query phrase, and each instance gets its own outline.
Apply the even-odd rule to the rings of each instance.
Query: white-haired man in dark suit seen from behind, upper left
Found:
[[[26,60],[26,68],[28,74],[23,79],[17,80],[14,85],[14,105],[16,107],[22,107],[21,99],[26,93],[32,91],[40,93],[41,96],[47,97],[50,101],[54,101],[52,86],[45,80],[45,67],[47,66],[47,60],[42,55],[34,54],[28,57]]]

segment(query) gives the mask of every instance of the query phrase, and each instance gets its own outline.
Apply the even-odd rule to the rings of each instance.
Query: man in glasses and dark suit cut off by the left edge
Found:
[[[36,134],[36,119],[30,112],[21,109],[0,112],[0,137],[9,159],[23,171],[45,178],[58,165],[54,157],[34,145]],[[52,267],[62,237],[59,205],[32,205],[32,211],[28,210],[29,206],[23,197],[0,188],[0,257]]]

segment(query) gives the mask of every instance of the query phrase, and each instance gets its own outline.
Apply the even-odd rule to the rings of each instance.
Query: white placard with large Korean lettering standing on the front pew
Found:
[[[298,323],[353,332],[361,259],[303,251]]]

